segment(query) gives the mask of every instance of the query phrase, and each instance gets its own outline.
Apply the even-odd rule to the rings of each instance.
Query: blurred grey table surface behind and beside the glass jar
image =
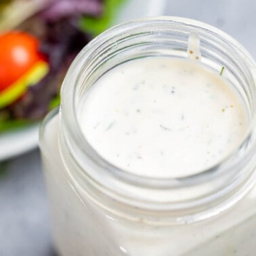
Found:
[[[255,11],[254,0],[167,0],[165,15],[217,26],[256,57]],[[0,165],[0,256],[55,255],[40,161],[34,150]]]

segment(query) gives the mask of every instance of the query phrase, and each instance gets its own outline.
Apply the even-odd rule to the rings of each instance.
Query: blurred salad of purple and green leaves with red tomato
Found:
[[[40,121],[81,49],[125,0],[2,0],[0,133]]]

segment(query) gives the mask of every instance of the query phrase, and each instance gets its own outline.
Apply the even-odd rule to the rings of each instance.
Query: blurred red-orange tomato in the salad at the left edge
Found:
[[[0,35],[0,91],[17,81],[38,60],[39,40],[24,32],[12,31]]]

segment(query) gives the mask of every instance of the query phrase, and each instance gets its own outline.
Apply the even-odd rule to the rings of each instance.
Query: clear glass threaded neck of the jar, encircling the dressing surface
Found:
[[[128,60],[186,58],[192,31],[201,39],[202,64],[212,70],[219,71],[222,66],[228,70],[227,77],[247,108],[249,131],[225,161],[197,175],[156,179],[126,173],[108,163],[85,140],[79,126],[81,98],[102,74]],[[62,86],[60,150],[72,186],[81,198],[89,196],[107,211],[128,219],[144,217],[148,223],[156,219],[158,224],[159,219],[163,223],[188,223],[230,208],[255,180],[253,68],[253,58],[234,39],[194,20],[147,18],[106,31],[81,51]]]

